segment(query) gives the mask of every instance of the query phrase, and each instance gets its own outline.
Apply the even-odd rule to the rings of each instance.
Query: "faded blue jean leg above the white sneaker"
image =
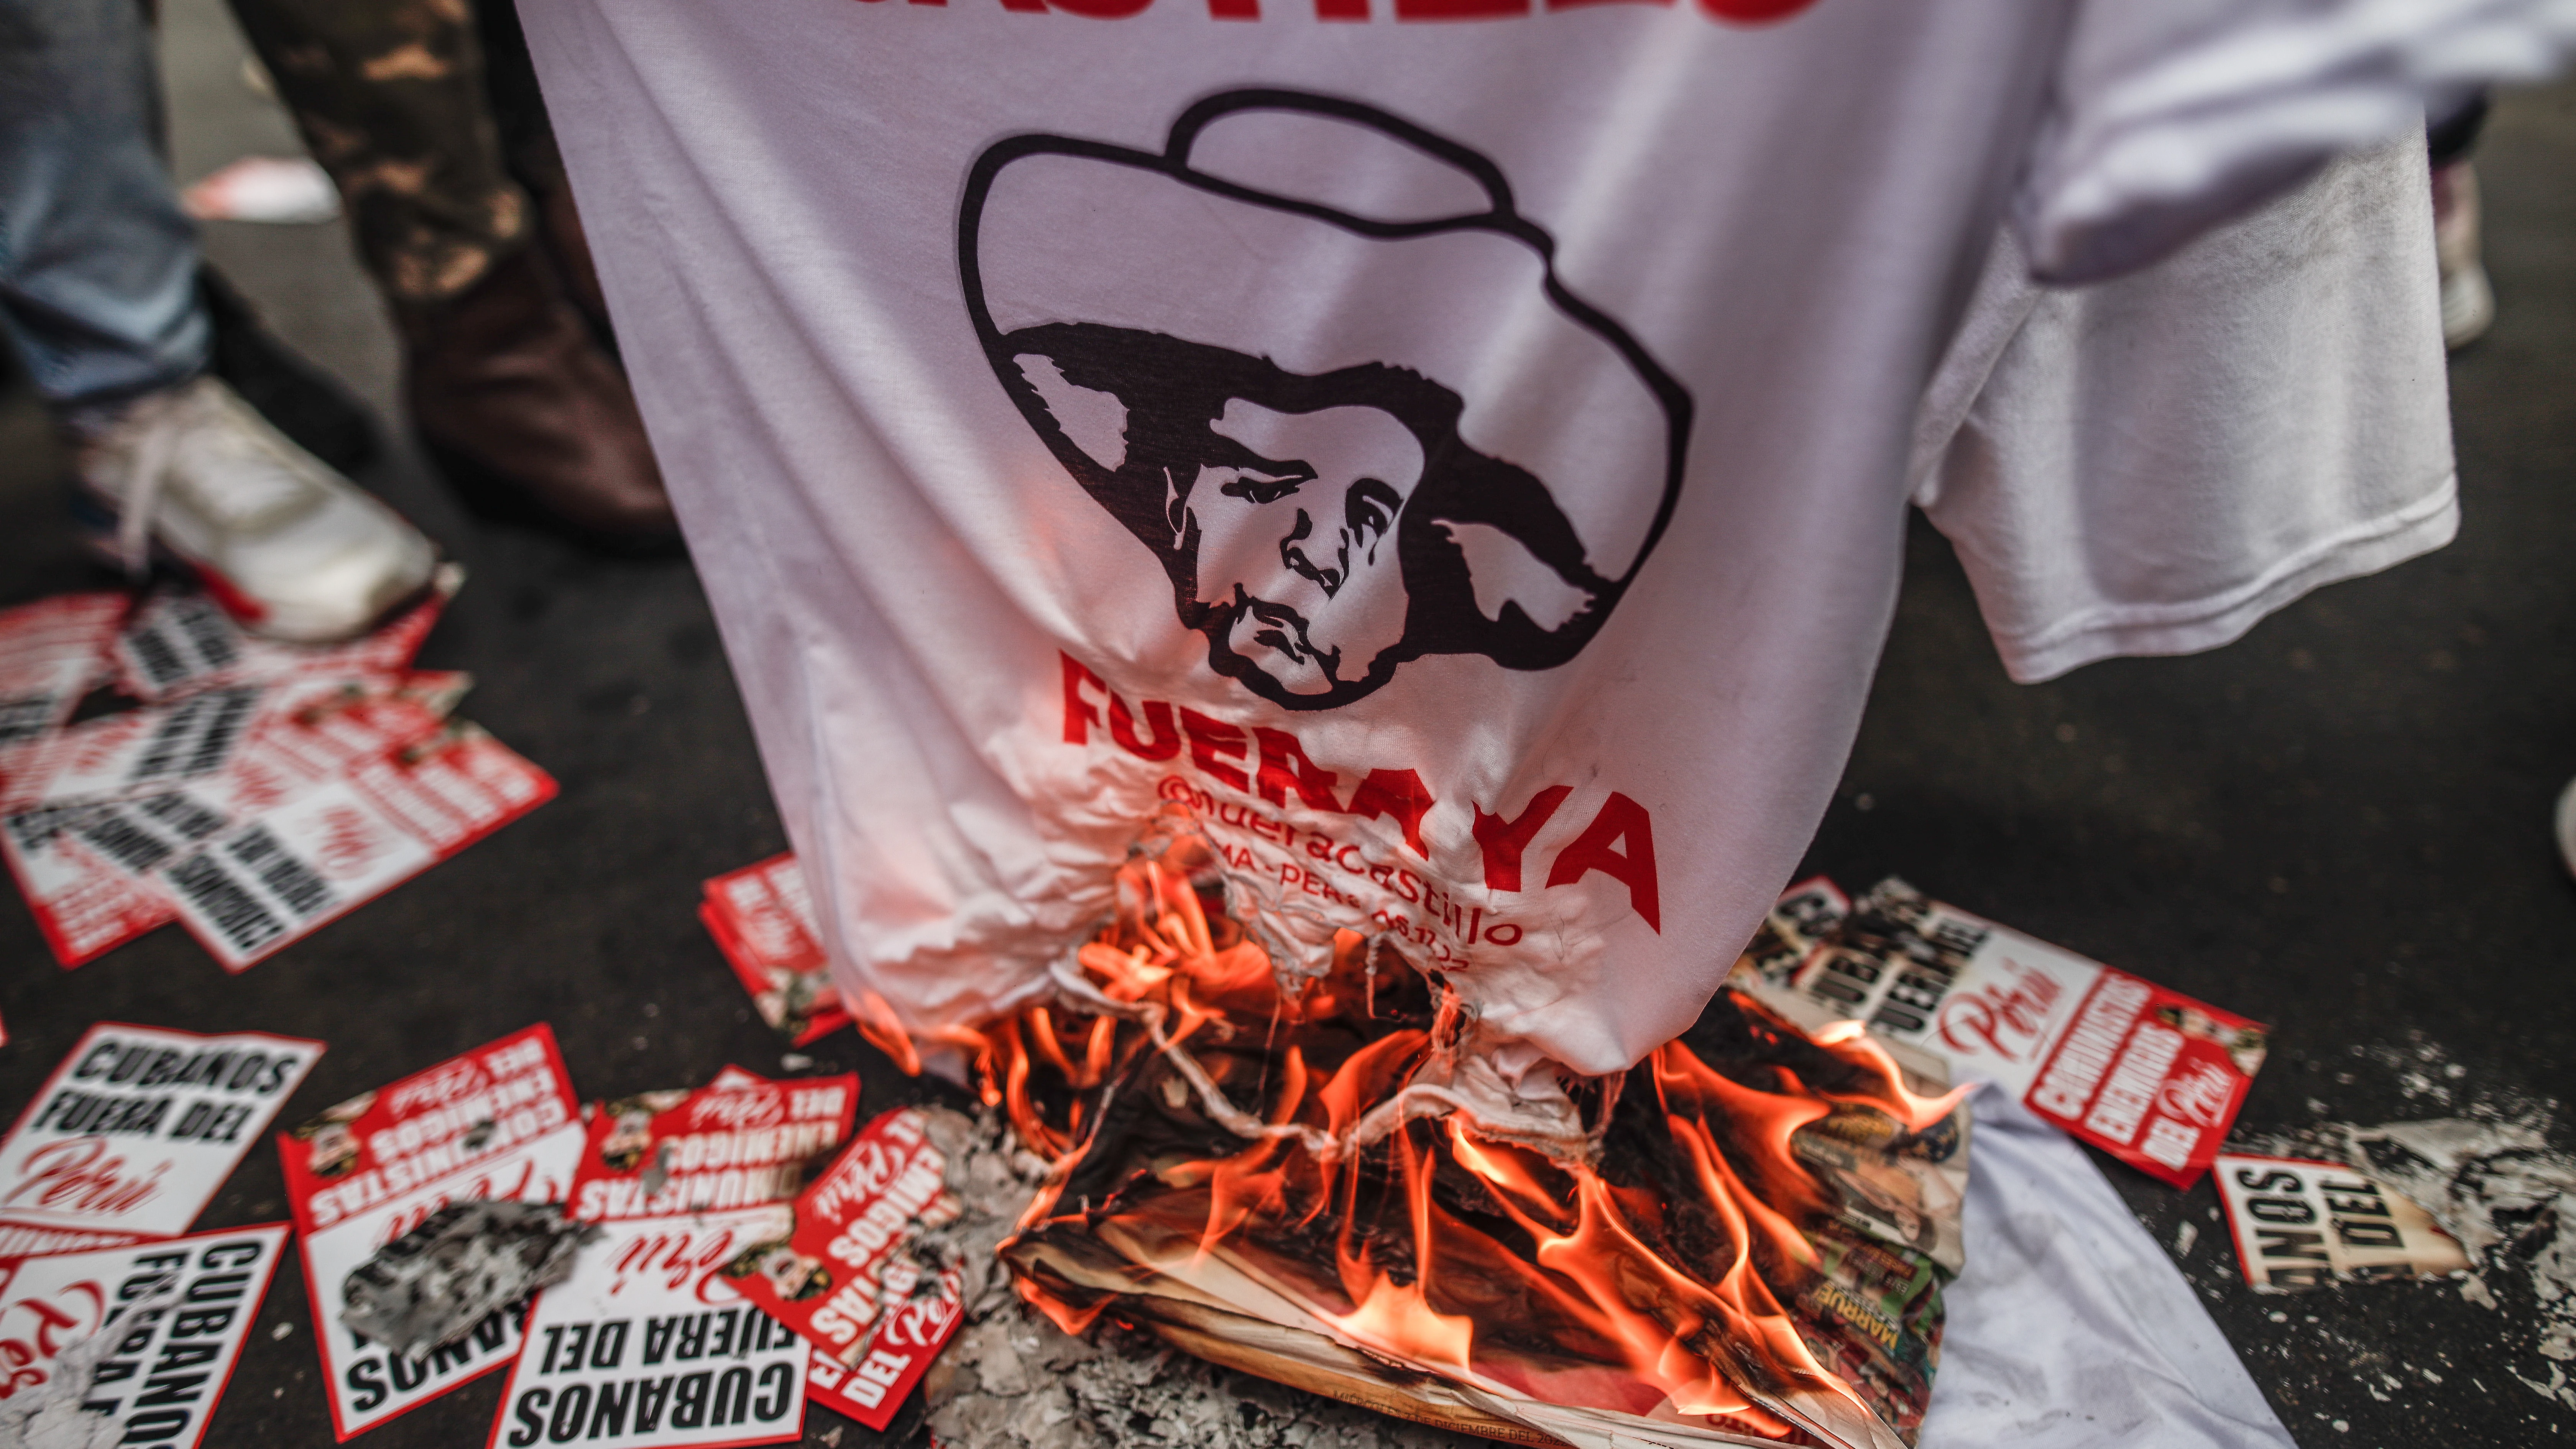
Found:
[[[0,0],[0,330],[57,407],[206,369],[137,0]]]

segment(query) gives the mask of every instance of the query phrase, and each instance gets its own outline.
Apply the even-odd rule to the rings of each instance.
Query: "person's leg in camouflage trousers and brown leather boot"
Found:
[[[538,248],[466,0],[232,0],[404,340],[420,438],[477,500],[667,539],[626,376]]]

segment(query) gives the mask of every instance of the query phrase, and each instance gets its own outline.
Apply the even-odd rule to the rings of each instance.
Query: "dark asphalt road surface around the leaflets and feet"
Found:
[[[165,5],[183,180],[296,150],[240,62],[219,0]],[[2506,95],[2478,165],[2501,320],[2452,364],[2460,541],[2210,655],[2014,686],[1947,544],[1917,526],[1870,714],[1808,856],[1844,887],[1904,874],[2272,1024],[2246,1132],[2504,1111],[2576,1145],[2558,1101],[2576,1080],[2576,884],[2548,833],[2576,773],[2576,85]],[[337,227],[214,224],[206,250],[278,335],[394,415],[392,333]],[[62,523],[62,467],[10,387],[0,603],[98,585]],[[531,1021],[554,1026],[585,1098],[726,1062],[778,1075],[781,1039],[693,915],[706,877],[786,841],[690,567],[479,523],[397,425],[361,482],[471,570],[420,663],[471,670],[461,714],[562,797],[240,977],[180,931],[62,972],[10,895],[0,1109],[93,1021],[327,1042],[283,1122]],[[863,1111],[940,1091],[848,1031],[806,1055],[860,1070]],[[2208,1183],[2105,1171],[2300,1444],[2576,1444],[2576,1413],[2522,1382],[2545,1382],[2548,1361],[2512,1284],[2496,1310],[2442,1281],[2259,1297]],[[281,1217],[260,1147],[201,1225]],[[206,1441],[327,1444],[317,1374],[307,1284],[286,1269]],[[497,1397],[484,1379],[368,1444],[482,1441]],[[806,1441],[832,1428],[817,1410]]]

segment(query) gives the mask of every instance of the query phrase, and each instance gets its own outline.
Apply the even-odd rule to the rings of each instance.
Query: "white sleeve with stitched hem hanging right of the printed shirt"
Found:
[[[2419,139],[2133,276],[1996,242],[1917,413],[1914,500],[2017,681],[2226,645],[2458,526]]]

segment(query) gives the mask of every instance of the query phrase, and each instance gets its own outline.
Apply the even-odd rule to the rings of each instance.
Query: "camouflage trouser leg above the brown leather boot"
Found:
[[[528,242],[469,0],[232,0],[358,255],[397,307],[446,302]]]

